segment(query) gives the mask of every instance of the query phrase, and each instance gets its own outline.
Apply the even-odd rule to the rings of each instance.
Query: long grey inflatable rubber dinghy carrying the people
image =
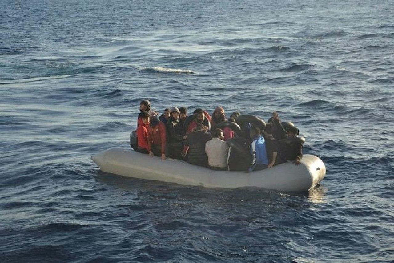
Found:
[[[258,187],[279,192],[303,192],[320,183],[325,176],[323,161],[314,155],[303,155],[298,166],[286,162],[249,173],[214,171],[182,160],[162,160],[160,157],[123,148],[107,149],[91,159],[103,172],[202,187]]]

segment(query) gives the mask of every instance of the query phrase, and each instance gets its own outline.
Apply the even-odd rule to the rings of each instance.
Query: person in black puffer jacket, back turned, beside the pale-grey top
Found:
[[[206,131],[204,125],[198,124],[184,140],[184,145],[187,147],[186,162],[199,166],[207,166],[208,157],[205,153],[205,143],[211,139],[212,134]]]

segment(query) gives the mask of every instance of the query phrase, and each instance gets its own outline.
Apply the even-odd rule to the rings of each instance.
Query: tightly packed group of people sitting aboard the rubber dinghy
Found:
[[[212,170],[256,171],[286,161],[298,165],[302,158],[299,130],[282,123],[273,112],[268,124],[252,115],[233,112],[226,118],[223,107],[212,115],[201,108],[188,116],[185,107],[166,108],[164,113],[151,109],[149,100],[141,101],[136,144],[139,153],[181,159]]]

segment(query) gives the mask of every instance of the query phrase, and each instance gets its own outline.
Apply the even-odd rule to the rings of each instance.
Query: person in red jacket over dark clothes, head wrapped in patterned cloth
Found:
[[[165,147],[167,144],[167,131],[157,114],[151,112],[148,125],[148,151],[149,156],[161,156],[165,160]]]

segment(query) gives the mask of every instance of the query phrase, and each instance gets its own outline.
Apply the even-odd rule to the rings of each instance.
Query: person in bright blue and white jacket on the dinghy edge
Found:
[[[253,140],[250,145],[250,152],[253,156],[249,172],[263,170],[268,167],[268,157],[266,152],[266,142],[261,136],[261,130],[258,127],[251,127],[250,138]]]

